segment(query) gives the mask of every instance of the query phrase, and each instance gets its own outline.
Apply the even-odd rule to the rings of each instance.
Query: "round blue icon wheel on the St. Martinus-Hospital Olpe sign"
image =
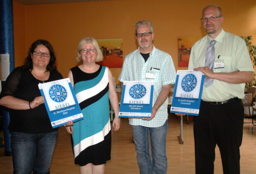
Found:
[[[67,98],[67,91],[63,86],[56,84],[49,89],[49,95],[53,101],[63,102]]]

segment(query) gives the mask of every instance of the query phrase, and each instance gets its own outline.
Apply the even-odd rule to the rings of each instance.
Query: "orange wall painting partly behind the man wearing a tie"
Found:
[[[178,66],[188,67],[189,56],[192,45],[198,41],[201,37],[179,37],[178,38]]]

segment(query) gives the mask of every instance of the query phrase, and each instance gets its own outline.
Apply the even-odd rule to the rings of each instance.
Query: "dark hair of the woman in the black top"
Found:
[[[33,54],[34,50],[36,49],[36,47],[38,45],[45,46],[46,48],[48,48],[48,50],[50,52],[50,61],[46,67],[46,71],[55,72],[57,70],[57,68],[56,68],[56,64],[55,64],[56,63],[56,55],[54,53],[53,46],[48,41],[43,40],[43,39],[39,39],[37,41],[34,41],[34,43],[32,43],[32,45],[29,48],[28,56],[24,60],[23,67],[27,70],[33,69],[31,55]]]

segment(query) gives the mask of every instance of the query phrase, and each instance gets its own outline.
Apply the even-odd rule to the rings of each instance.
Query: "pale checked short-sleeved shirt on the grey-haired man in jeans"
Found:
[[[154,69],[155,68],[155,69]],[[155,74],[155,79],[147,79],[146,73]],[[153,105],[162,90],[163,85],[175,83],[176,70],[171,56],[166,52],[158,50],[153,46],[150,57],[145,62],[140,50],[135,50],[128,54],[123,62],[123,67],[119,75],[119,81],[154,81]],[[168,100],[159,107],[155,117],[152,120],[142,120],[140,118],[130,118],[129,124],[146,127],[162,126],[168,117]]]

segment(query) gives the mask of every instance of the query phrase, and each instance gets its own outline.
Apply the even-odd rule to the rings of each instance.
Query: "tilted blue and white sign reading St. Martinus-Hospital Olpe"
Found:
[[[69,78],[38,86],[53,128],[84,119]]]

